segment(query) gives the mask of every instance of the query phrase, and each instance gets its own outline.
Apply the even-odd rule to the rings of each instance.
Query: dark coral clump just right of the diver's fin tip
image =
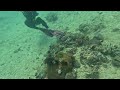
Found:
[[[82,45],[87,45],[89,42],[89,37],[80,33],[67,33],[63,37],[58,38],[58,43],[68,47],[79,47]]]

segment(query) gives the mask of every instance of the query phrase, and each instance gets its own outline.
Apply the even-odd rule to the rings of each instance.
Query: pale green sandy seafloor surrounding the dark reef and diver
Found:
[[[39,16],[46,20],[49,12],[39,13]],[[51,29],[74,33],[82,23],[104,22],[106,28],[101,30],[104,43],[120,45],[120,30],[112,32],[114,28],[120,28],[120,12],[56,13],[58,20],[48,23]],[[40,31],[26,27],[24,20],[20,12],[0,12],[0,78],[35,78],[37,69],[44,69],[45,54],[49,45],[55,42],[55,37],[48,37]],[[100,70],[101,78],[120,78],[119,68],[110,66]],[[82,76],[81,71],[79,73]]]

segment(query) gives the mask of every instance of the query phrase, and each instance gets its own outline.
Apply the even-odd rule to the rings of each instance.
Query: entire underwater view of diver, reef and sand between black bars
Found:
[[[120,79],[120,11],[0,11],[0,79]]]

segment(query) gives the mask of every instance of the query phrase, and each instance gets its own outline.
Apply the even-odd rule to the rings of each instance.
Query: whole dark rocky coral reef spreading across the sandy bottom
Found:
[[[105,26],[100,23],[95,28]],[[89,31],[89,25],[80,25],[79,30],[80,33],[66,32],[62,37],[57,37],[57,43],[49,47],[44,60],[48,79],[77,79],[77,69],[82,68],[87,71],[85,78],[98,79],[101,78],[101,66],[107,68],[111,63],[113,67],[120,67],[120,48],[117,45],[103,44],[104,36],[100,33],[90,38],[85,34]]]

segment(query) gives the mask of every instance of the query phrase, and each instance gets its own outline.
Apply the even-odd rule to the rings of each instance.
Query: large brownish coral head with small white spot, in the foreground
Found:
[[[70,53],[58,52],[53,56],[49,53],[49,56],[45,59],[48,69],[47,77],[50,79],[65,78],[66,73],[72,71],[74,60],[74,56]]]

